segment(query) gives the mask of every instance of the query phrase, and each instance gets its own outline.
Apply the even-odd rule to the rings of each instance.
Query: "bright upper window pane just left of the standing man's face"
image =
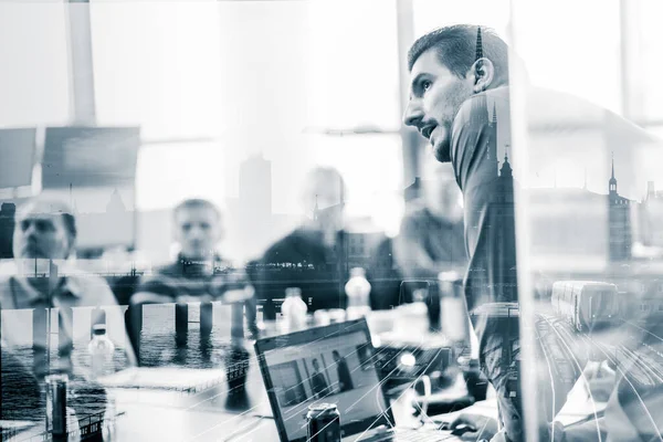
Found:
[[[306,20],[309,124],[334,129],[397,129],[394,2],[311,2]]]

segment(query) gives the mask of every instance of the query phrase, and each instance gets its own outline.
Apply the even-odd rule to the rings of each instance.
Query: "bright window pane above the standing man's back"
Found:
[[[527,35],[517,53],[533,84],[621,112],[618,0],[519,2],[515,17],[517,34]],[[588,74],[592,60],[600,75]]]

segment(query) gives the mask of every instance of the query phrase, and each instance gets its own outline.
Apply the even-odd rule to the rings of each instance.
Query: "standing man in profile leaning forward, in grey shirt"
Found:
[[[411,84],[404,124],[430,140],[439,161],[451,161],[463,192],[467,309],[517,302],[513,176],[508,151],[497,149],[497,133],[509,129],[507,46],[478,27],[442,28],[414,42],[408,66]],[[501,213],[498,199],[512,202],[499,207]],[[473,319],[480,359],[497,391],[505,433],[509,440],[523,440],[523,411],[519,400],[514,400],[519,398],[508,390],[515,361],[509,337],[488,315]]]

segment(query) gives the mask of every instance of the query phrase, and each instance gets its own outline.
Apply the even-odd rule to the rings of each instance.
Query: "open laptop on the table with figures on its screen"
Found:
[[[434,428],[394,428],[366,319],[262,338],[255,351],[282,442],[306,442],[315,403],[336,404],[344,442],[460,440]]]

